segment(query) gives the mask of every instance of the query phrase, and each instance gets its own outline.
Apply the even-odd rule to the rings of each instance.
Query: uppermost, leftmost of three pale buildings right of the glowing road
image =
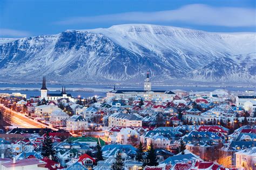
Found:
[[[61,109],[55,105],[39,105],[35,107],[35,117],[50,118],[50,115],[55,110],[61,111]]]

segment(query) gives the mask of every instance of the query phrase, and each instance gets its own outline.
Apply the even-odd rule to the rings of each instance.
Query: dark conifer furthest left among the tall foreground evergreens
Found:
[[[51,156],[53,159],[55,158],[55,151],[53,150],[52,140],[51,140],[51,137],[49,136],[48,131],[46,132],[46,135],[43,141],[42,156],[48,157],[48,158]]]

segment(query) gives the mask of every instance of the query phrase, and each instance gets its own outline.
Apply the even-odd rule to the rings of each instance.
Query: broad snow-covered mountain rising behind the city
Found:
[[[126,24],[0,39],[0,80],[256,82],[256,34]]]

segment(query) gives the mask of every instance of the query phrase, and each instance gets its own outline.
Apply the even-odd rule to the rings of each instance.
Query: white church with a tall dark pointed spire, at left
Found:
[[[41,88],[41,100],[47,100],[47,101],[57,101],[60,98],[67,98],[69,101],[72,101],[71,94],[66,94],[66,87],[62,87],[62,93],[60,94],[48,94],[48,89],[46,88],[46,80],[45,76],[43,76],[43,83]]]

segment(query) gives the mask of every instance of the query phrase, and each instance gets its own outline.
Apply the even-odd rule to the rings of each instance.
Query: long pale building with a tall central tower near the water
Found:
[[[113,90],[107,93],[108,99],[129,99],[130,97],[142,97],[145,101],[172,101],[175,93],[170,90],[152,90],[151,82],[149,78],[149,72],[147,72],[146,80],[144,81],[144,90]]]

